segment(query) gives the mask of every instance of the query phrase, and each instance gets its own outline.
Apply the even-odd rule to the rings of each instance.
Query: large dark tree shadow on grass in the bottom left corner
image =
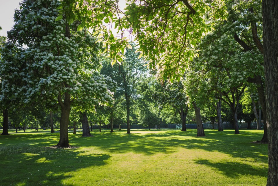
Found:
[[[64,185],[63,180],[70,178],[71,172],[105,165],[110,158],[107,154],[91,154],[78,148],[50,149],[13,145],[0,146],[0,149],[6,153],[4,157],[0,154],[3,185]]]

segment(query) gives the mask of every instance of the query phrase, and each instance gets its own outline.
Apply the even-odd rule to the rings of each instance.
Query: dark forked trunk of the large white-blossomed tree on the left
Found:
[[[69,114],[70,114],[70,94],[65,93],[64,102],[61,100],[61,95],[58,95],[58,102],[61,106],[61,120],[60,120],[60,139],[56,147],[71,147],[69,145],[69,134],[68,134],[68,127],[69,127]]]

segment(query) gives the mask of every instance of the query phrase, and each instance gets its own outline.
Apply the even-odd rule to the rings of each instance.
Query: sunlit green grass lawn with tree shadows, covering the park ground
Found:
[[[263,131],[70,131],[74,149],[46,148],[59,140],[50,130],[9,133],[0,136],[0,185],[266,185],[267,145],[251,143]]]

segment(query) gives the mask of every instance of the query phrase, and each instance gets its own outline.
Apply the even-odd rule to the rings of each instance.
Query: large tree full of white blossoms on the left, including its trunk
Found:
[[[61,107],[60,140],[70,147],[69,113],[72,105],[93,111],[94,105],[112,105],[112,93],[99,74],[99,44],[88,31],[75,32],[76,23],[56,19],[58,0],[23,1],[14,15],[11,41],[25,44],[23,102],[58,102]],[[56,21],[55,21],[56,19]],[[22,61],[21,61],[22,62]]]

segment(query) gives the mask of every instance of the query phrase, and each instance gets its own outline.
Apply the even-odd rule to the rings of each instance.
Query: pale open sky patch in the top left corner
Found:
[[[0,0],[0,31],[1,36],[7,36],[7,31],[14,25],[14,10],[19,9],[22,0]]]

